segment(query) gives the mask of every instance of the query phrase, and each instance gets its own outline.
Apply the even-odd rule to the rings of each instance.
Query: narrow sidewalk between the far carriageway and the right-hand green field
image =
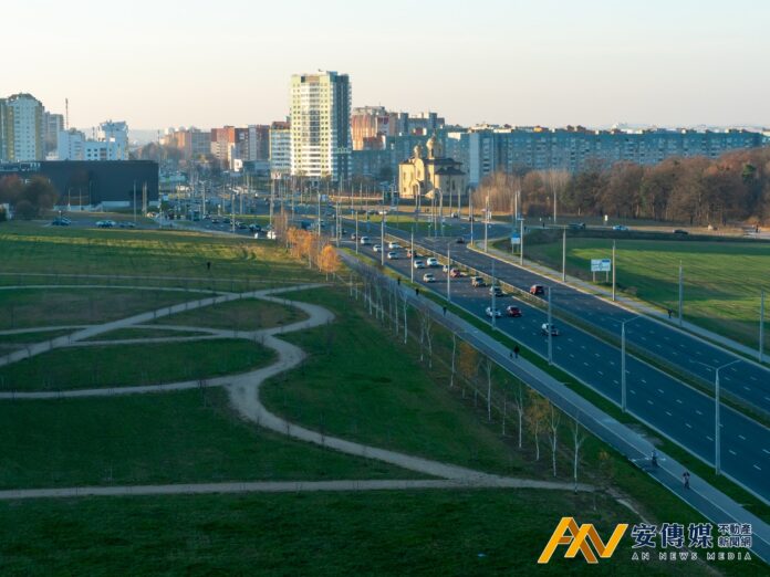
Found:
[[[480,249],[478,246],[470,248],[470,250],[475,250],[477,252],[483,252],[483,249]],[[510,254],[499,250],[495,249],[492,246],[489,248],[489,251],[486,253],[489,256],[495,256],[501,261],[507,262],[508,264],[512,264],[514,266],[519,266],[519,260],[518,259],[511,259]],[[547,276],[554,282],[562,282],[562,275],[561,272],[554,271],[553,269],[549,269],[548,266],[544,266],[540,263],[537,263],[534,261],[529,261],[524,259],[524,269],[534,272],[537,274],[540,274],[542,276]],[[593,294],[599,297],[602,297],[606,301],[612,302],[612,290],[607,288],[605,286],[599,286],[595,284],[592,284],[587,281],[584,281],[582,279],[578,279],[576,276],[571,276],[566,275],[566,282],[565,284],[572,286],[573,288],[578,288],[580,291],[583,291],[584,293]],[[673,318],[668,318],[668,315],[664,312],[660,311],[659,308],[656,308],[655,306],[644,303],[642,301],[637,301],[635,298],[631,298],[628,296],[622,295],[620,293],[615,294],[615,304],[618,306],[623,306],[624,308],[627,308],[629,311],[633,311],[637,314],[642,314],[645,316],[648,316],[659,323],[666,324],[668,326],[672,326],[674,328],[679,328],[680,331],[685,331],[687,333],[693,334],[694,336],[698,336],[705,340],[710,342],[711,344],[717,344],[721,345],[725,348],[731,349],[735,353],[739,353],[743,356],[749,357],[750,360],[753,360],[755,363],[759,364],[758,360],[758,350],[753,349],[751,347],[748,347],[741,343],[738,343],[736,340],[732,340],[731,338],[725,337],[722,335],[719,335],[717,333],[714,333],[711,331],[708,331],[707,328],[704,328],[701,326],[695,325],[693,323],[689,323],[688,321],[683,321],[681,326],[679,326],[679,319],[678,317],[674,316]],[[764,363],[762,366],[767,366],[768,361],[770,360],[770,355],[764,355]]]

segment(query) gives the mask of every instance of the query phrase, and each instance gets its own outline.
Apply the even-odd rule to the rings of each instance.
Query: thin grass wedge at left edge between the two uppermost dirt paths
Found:
[[[3,312],[0,314],[0,331],[106,323],[200,296],[197,293],[110,287],[4,290],[0,291],[0,311]]]

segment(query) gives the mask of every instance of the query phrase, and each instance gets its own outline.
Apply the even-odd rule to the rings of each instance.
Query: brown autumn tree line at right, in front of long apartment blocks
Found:
[[[581,172],[496,172],[475,192],[495,211],[511,211],[516,191],[527,217],[558,213],[724,225],[770,223],[770,148],[705,157],[669,158],[652,166],[599,162]],[[477,200],[478,202],[478,200]],[[479,204],[480,206],[480,204]]]

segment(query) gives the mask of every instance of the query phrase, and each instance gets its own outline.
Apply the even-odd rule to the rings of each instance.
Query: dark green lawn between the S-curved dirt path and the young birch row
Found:
[[[315,430],[376,447],[506,474],[523,463],[388,335],[373,326],[346,293],[291,294],[336,315],[329,326],[287,334],[305,363],[262,389],[271,410]]]

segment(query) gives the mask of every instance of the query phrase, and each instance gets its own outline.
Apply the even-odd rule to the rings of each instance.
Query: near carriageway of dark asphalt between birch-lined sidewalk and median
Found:
[[[391,233],[394,232],[398,231],[391,230]],[[399,235],[404,238],[403,232]],[[374,231],[371,237],[373,242],[377,242],[378,239]],[[452,240],[450,239],[450,242]],[[407,244],[406,240],[402,242],[404,246]],[[445,252],[446,244],[447,239],[444,239],[443,251],[438,252]],[[379,254],[374,253],[371,246],[360,246],[360,250],[377,260],[379,259]],[[468,264],[470,264],[471,258],[476,259],[474,262],[477,262],[479,258],[488,259],[483,255],[471,254],[460,244],[452,243],[451,251],[452,261],[457,259],[457,261],[465,263],[468,259]],[[402,254],[406,253],[402,251]],[[405,279],[409,277],[409,259],[389,260],[386,264],[403,274]],[[509,267],[519,271],[514,266]],[[501,273],[499,275],[497,274],[498,270]],[[425,272],[427,270],[416,270],[415,281],[426,284],[422,282]],[[431,283],[431,287],[446,294],[445,273],[441,272],[440,267],[433,269],[430,272],[437,279],[436,283]],[[496,264],[496,276],[509,282],[507,272],[500,263]],[[533,276],[533,279],[535,277]],[[519,282],[516,282],[516,279],[511,280],[514,281],[512,284],[522,286],[529,286],[535,282],[552,284],[543,279],[535,279],[531,282],[527,279],[519,280]],[[470,281],[464,277],[451,280],[450,292],[451,301],[455,304],[489,322],[485,315],[485,308],[491,304],[488,288],[474,288],[470,286]],[[555,298],[560,298],[559,294],[554,291]],[[573,301],[572,306],[575,306],[576,302],[580,301]],[[545,313],[511,296],[497,298],[498,308],[504,310],[508,304],[519,306],[523,315],[520,318],[499,318],[497,321],[498,329],[522,343],[526,347],[541,355],[547,355],[548,338],[540,331],[540,326],[547,319]],[[615,308],[612,305],[608,306]],[[573,374],[608,399],[620,403],[620,350],[600,338],[562,322],[556,322],[556,325],[562,334],[553,338],[554,364]],[[639,329],[637,328],[637,331]],[[639,333],[642,334],[641,331]],[[629,412],[705,461],[714,462],[715,402],[712,398],[631,355],[626,356],[626,384]],[[721,469],[763,500],[770,501],[770,430],[724,405],[721,408]]]

